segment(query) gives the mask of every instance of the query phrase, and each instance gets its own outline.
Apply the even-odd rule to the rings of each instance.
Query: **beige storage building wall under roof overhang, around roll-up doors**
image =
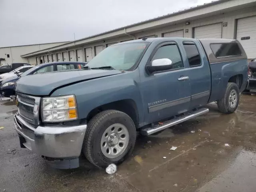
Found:
[[[234,39],[236,38],[236,22],[237,19],[239,18],[245,18],[249,16],[256,16],[256,6],[250,7],[250,8],[244,8],[240,10],[235,10],[232,12],[222,12],[221,14],[216,14],[212,16],[207,16],[204,18],[197,18],[197,19],[190,19],[188,20],[190,22],[189,25],[186,25],[185,22],[182,23],[175,23],[172,25],[167,25],[167,24],[159,24],[156,23],[156,26],[151,26],[150,29],[148,28],[147,30],[139,30],[135,33],[130,33],[131,36],[128,35],[122,35],[122,36],[117,36],[114,38],[110,39],[102,39],[97,42],[93,43],[85,43],[85,44],[80,44],[79,46],[76,46],[75,44],[72,47],[66,47],[65,49],[58,50],[52,52],[53,54],[55,53],[60,53],[60,52],[66,52],[69,50],[77,50],[77,49],[82,49],[82,59],[83,61],[86,61],[85,57],[85,52],[84,49],[88,47],[92,47],[92,55],[93,57],[96,55],[95,53],[95,46],[102,45],[103,49],[106,48],[106,45],[109,43],[114,43],[114,42],[122,42],[125,40],[131,40],[131,39],[138,39],[143,36],[151,36],[155,35],[156,37],[162,37],[164,33],[166,32],[174,32],[177,30],[184,30],[184,37],[187,38],[194,38],[194,28],[198,26],[205,26],[205,25],[210,25],[210,24],[216,24],[216,23],[221,23],[222,26],[222,38],[229,38],[229,39]],[[227,26],[223,26],[223,23],[227,22]],[[256,20],[255,20],[256,22]],[[256,33],[256,31],[255,31]],[[43,56],[45,54],[40,54],[38,56]],[[29,57],[31,60],[35,60],[35,56]],[[76,58],[77,60],[77,58]]]

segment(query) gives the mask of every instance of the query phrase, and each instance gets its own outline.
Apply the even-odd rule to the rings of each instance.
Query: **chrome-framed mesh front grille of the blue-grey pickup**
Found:
[[[17,94],[17,98],[18,114],[27,122],[39,124],[40,98],[20,93]]]

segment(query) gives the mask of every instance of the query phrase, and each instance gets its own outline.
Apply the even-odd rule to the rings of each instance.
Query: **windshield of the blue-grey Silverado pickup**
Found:
[[[129,70],[136,64],[148,44],[148,42],[136,42],[110,46],[86,66],[90,68],[112,66],[116,70]]]

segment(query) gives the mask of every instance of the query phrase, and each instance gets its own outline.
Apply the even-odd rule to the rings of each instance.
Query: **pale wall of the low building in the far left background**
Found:
[[[58,46],[63,43],[64,42],[0,48],[0,58],[5,59],[5,60],[2,60],[0,64],[10,65],[12,63],[24,62],[24,63],[29,63],[31,65],[35,65],[36,64],[35,59],[28,60],[27,58],[22,58],[20,56],[28,52],[34,52],[34,51],[46,49],[52,46]],[[7,54],[9,54],[10,56],[9,58],[7,58]]]

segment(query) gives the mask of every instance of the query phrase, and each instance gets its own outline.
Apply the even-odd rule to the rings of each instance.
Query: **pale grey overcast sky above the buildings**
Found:
[[[0,47],[84,38],[211,0],[0,0]]]

